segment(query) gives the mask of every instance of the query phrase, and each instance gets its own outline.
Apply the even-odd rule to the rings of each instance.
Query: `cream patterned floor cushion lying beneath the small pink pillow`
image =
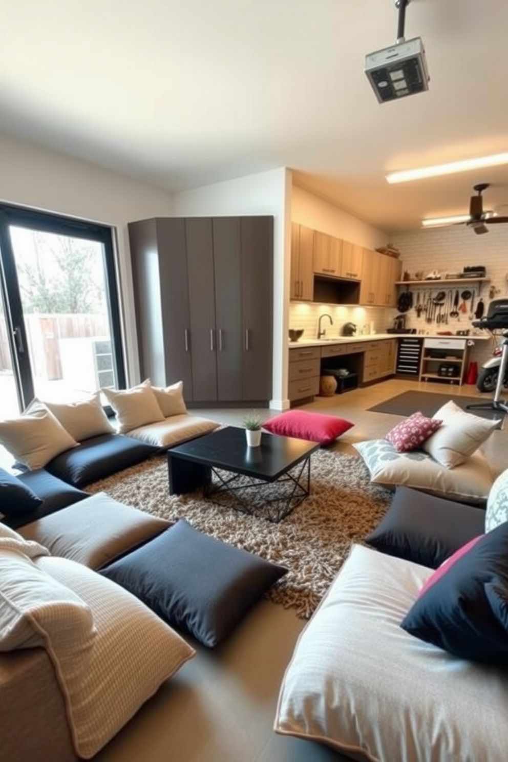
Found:
[[[386,487],[405,485],[449,500],[484,504],[494,481],[480,451],[461,466],[446,469],[422,450],[398,453],[385,439],[354,442],[353,447],[363,457],[371,482]]]

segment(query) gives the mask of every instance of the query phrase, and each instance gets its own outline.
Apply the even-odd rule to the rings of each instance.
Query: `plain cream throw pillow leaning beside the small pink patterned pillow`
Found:
[[[423,442],[422,448],[447,469],[464,463],[499,427],[499,421],[466,413],[452,399],[433,418],[442,420],[443,425]]]

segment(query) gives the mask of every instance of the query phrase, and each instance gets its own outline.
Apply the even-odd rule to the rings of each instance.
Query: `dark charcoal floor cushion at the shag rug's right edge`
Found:
[[[398,558],[436,568],[458,548],[485,531],[481,507],[397,487],[388,511],[366,543]]]

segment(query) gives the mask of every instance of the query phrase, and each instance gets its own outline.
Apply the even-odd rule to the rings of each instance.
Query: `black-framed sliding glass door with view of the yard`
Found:
[[[0,418],[125,386],[110,228],[0,204],[0,264]]]

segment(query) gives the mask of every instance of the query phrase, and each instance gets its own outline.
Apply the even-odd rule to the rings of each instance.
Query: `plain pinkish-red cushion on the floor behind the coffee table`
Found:
[[[263,428],[271,434],[308,439],[321,444],[330,444],[353,426],[354,424],[346,421],[345,418],[324,415],[324,413],[311,413],[308,410],[288,410],[263,424]]]

